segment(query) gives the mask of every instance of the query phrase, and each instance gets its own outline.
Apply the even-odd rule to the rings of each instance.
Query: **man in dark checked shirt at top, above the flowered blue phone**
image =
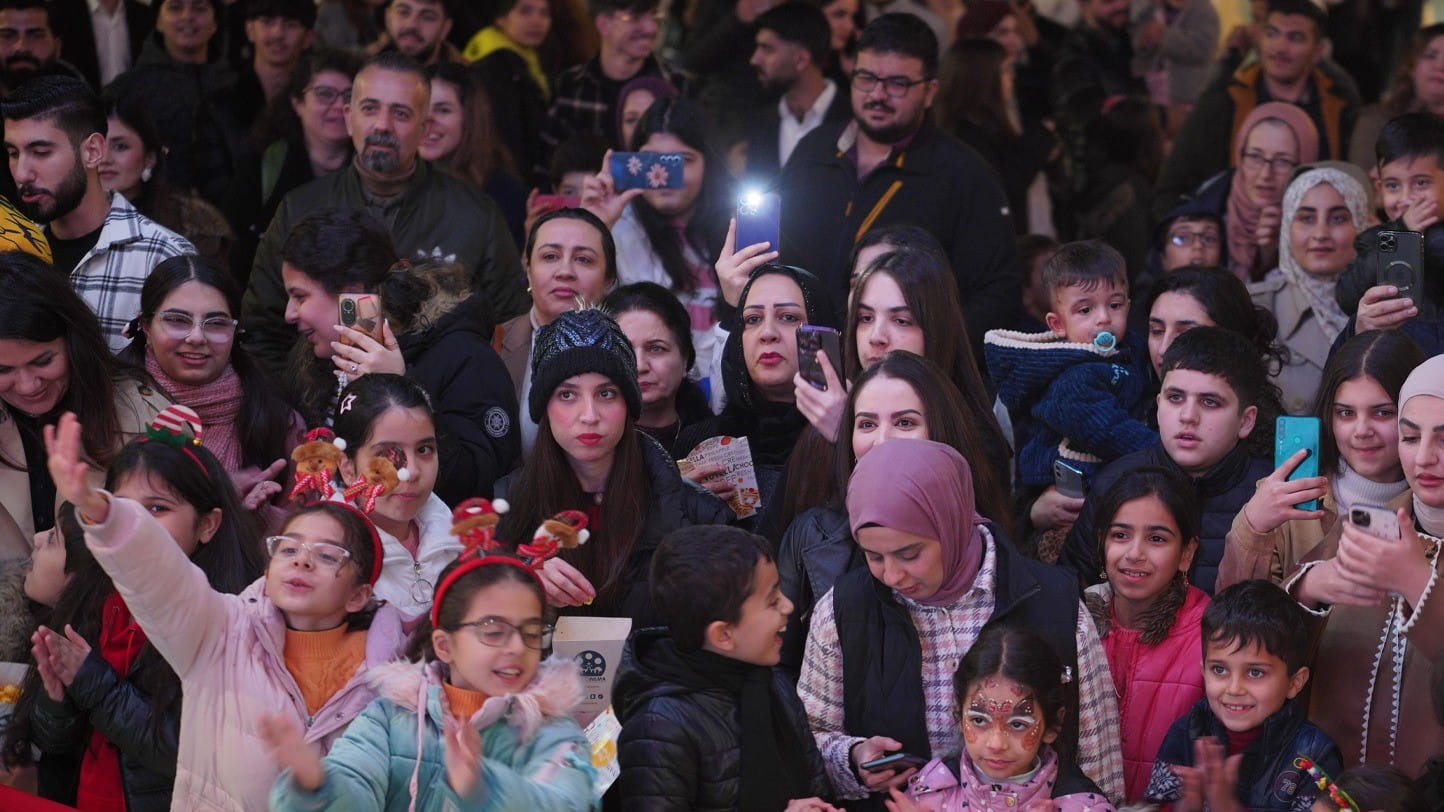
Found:
[[[663,14],[658,0],[592,0],[592,19],[602,45],[596,56],[562,71],[552,91],[542,140],[547,153],[576,134],[598,134],[615,147],[617,97],[637,77],[661,77],[686,90],[682,77],[653,55]],[[547,172],[546,166],[537,168]]]

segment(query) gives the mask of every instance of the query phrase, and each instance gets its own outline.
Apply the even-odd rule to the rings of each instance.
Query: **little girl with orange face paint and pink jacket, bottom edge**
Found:
[[[892,789],[888,811],[1112,812],[1061,747],[1064,728],[1077,727],[1073,676],[1032,631],[1004,624],[983,630],[953,676],[959,760],[928,761],[905,795]]]

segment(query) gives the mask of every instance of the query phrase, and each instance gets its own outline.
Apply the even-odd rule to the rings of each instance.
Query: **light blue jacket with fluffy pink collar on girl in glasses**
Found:
[[[326,777],[302,792],[282,773],[271,786],[273,811],[375,809],[417,812],[585,812],[593,808],[591,748],[570,711],[582,695],[572,660],[542,663],[521,694],[487,699],[469,724],[481,730],[481,774],[466,798],[446,780],[443,720],[451,714],[440,666],[390,663],[374,669],[380,696],[331,746]],[[425,698],[426,718],[416,708]]]

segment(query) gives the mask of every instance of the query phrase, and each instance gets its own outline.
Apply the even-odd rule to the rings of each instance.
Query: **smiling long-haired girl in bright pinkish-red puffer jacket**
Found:
[[[1194,660],[1209,595],[1188,585],[1199,552],[1199,503],[1190,483],[1164,468],[1123,474],[1097,504],[1097,559],[1105,584],[1084,602],[1097,624],[1118,692],[1126,798],[1148,789],[1168,727],[1203,698]]]

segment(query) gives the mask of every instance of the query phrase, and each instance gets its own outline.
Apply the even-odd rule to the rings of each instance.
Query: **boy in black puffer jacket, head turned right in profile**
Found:
[[[651,561],[667,629],[632,634],[612,704],[624,811],[835,812],[791,681],[774,668],[793,611],[771,545],[736,527],[669,535]]]

